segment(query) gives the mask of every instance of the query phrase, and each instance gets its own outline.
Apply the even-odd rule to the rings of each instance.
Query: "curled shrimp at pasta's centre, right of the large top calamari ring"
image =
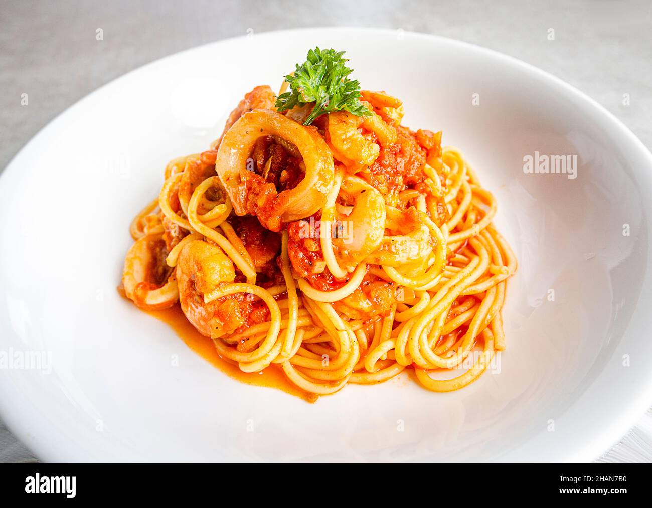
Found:
[[[342,264],[355,267],[381,245],[385,233],[385,203],[378,190],[353,176],[342,181],[339,196],[352,199],[354,204],[349,215],[339,216],[341,232],[338,230],[333,238],[333,245]]]

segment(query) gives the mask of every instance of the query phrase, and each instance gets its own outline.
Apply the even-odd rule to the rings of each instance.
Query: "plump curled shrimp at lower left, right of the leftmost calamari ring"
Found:
[[[243,293],[204,303],[206,293],[235,280],[233,263],[216,245],[189,241],[179,253],[177,280],[181,310],[203,335],[218,338],[267,318],[267,308]]]

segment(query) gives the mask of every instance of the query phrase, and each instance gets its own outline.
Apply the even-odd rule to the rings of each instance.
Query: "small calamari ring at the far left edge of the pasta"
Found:
[[[143,236],[127,252],[122,288],[140,308],[160,310],[179,299],[175,275],[165,261],[167,255],[161,235]]]

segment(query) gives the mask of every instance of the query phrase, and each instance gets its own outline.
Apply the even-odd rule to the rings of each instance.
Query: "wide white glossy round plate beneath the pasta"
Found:
[[[402,98],[406,125],[443,129],[495,192],[520,261],[500,374],[307,404],[231,380],[117,294],[128,224],[166,162],[205,149],[244,92],[276,89],[316,45]],[[578,156],[578,177],[524,173],[535,151]],[[52,359],[0,368],[1,415],[44,460],[590,460],[652,402],[651,169],[589,98],[453,40],[306,29],[167,57],[63,113],[0,179],[0,351]]]

